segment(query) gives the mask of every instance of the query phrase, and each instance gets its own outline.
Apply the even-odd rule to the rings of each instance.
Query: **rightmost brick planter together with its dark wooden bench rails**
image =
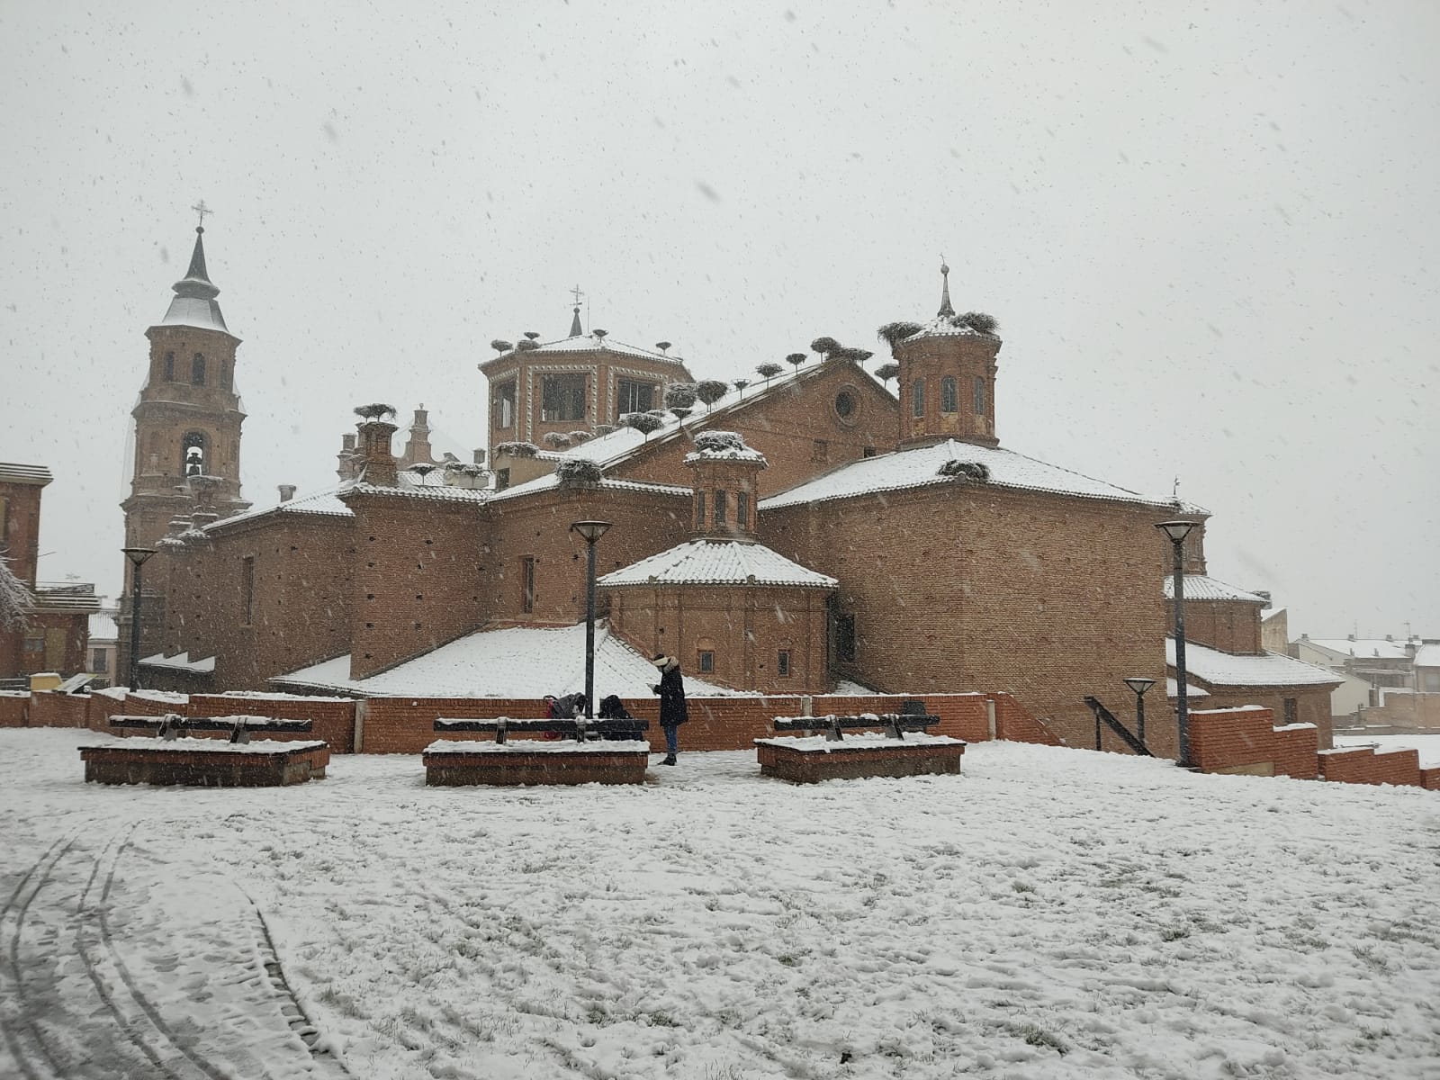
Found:
[[[965,742],[927,734],[937,723],[940,717],[930,713],[778,716],[772,721],[776,732],[822,732],[824,737],[756,739],[755,752],[762,775],[792,783],[959,773]],[[845,732],[871,734],[845,739]],[[874,734],[878,732],[884,734]],[[907,732],[920,737],[907,740]]]

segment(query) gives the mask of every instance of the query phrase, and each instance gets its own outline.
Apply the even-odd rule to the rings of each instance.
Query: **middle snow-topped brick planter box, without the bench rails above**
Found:
[[[644,783],[649,743],[508,743],[436,740],[425,747],[425,783],[516,786],[567,783]]]

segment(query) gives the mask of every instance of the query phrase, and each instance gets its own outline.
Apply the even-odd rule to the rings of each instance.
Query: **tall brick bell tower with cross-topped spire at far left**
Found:
[[[203,207],[203,203],[202,203]],[[203,210],[202,210],[202,222]],[[207,477],[212,513],[229,517],[249,503],[240,498],[240,410],[235,393],[235,350],[240,340],[225,325],[204,268],[204,226],[196,228],[194,252],[174,298],[158,324],[145,331],[150,364],[131,416],[135,418],[134,474],[125,511],[125,547],[154,547],[173,517],[196,503],[190,477]],[[121,605],[121,671],[128,664],[132,567],[125,560]],[[148,583],[147,583],[148,585]],[[160,590],[145,588],[141,655],[150,629],[164,625]]]

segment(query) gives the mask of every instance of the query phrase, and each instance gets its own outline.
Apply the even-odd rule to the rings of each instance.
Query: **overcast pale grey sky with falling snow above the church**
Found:
[[[1440,4],[0,0],[0,459],[114,592],[204,199],[246,495],[353,405],[485,445],[492,337],[739,377],[1001,320],[1001,441],[1214,513],[1293,634],[1440,635]],[[871,364],[873,366],[873,364]]]

